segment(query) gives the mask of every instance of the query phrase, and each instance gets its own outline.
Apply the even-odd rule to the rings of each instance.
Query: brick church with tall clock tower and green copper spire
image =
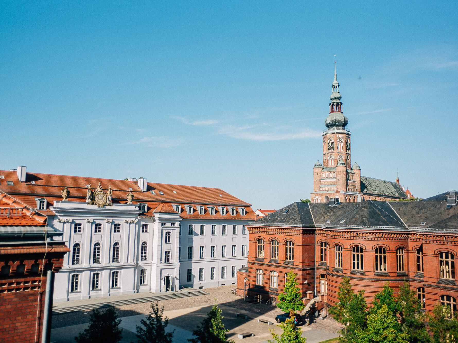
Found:
[[[348,119],[342,110],[335,66],[332,88],[329,116],[324,122],[327,129],[323,132],[323,164],[316,161],[313,166],[310,200],[327,203],[330,198],[338,198],[340,202],[408,198],[399,185],[399,178],[391,182],[364,177],[358,164],[351,165],[351,132],[346,129]]]

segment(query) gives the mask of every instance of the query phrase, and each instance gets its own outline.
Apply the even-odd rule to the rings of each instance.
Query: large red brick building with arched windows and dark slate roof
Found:
[[[458,206],[447,201],[293,203],[248,226],[248,267],[239,270],[238,294],[276,299],[285,273],[297,274],[300,292],[335,304],[344,276],[370,303],[386,281],[409,281],[427,311],[437,302],[456,312]],[[449,201],[449,202],[452,202]]]

